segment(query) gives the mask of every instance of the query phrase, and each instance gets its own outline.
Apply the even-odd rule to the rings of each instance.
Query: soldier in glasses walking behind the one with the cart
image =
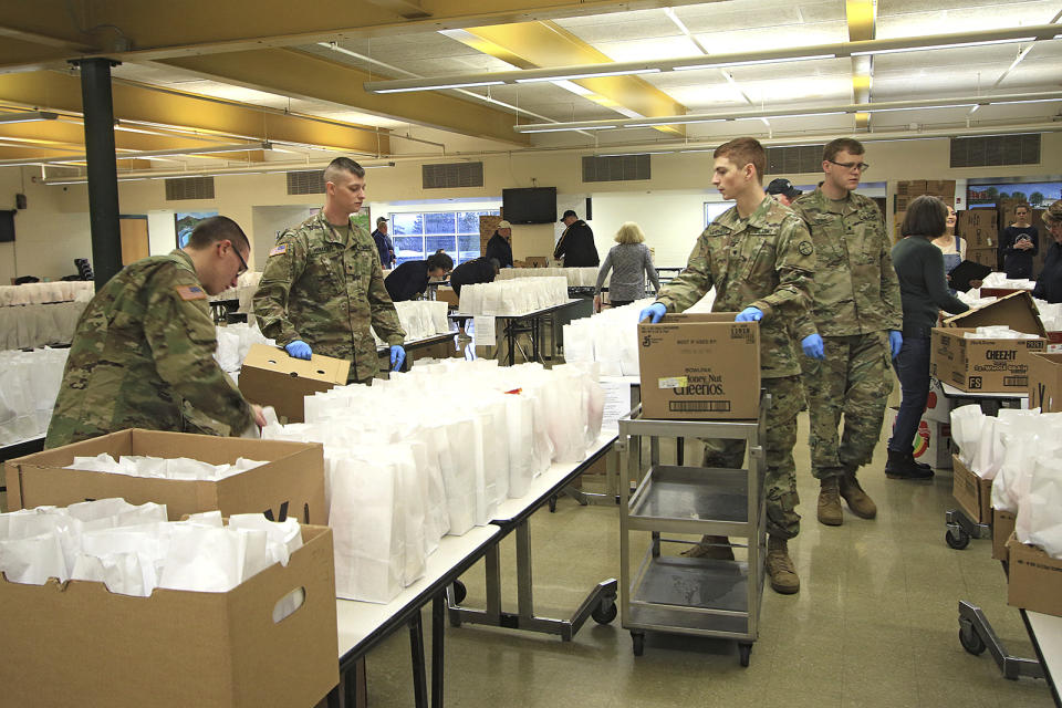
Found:
[[[899,352],[903,310],[885,221],[873,200],[853,191],[866,169],[863,146],[839,138],[825,146],[825,179],[792,208],[815,243],[815,325],[826,358],[804,369],[811,421],[811,469],[819,478],[819,521],[840,525],[841,500],[858,517],[877,507],[856,480],[871,461],[893,389],[889,360]],[[844,414],[840,445],[837,426]]]

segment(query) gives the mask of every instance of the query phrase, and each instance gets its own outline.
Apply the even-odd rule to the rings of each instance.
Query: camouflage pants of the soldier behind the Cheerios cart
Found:
[[[763,388],[771,395],[767,410],[767,472],[763,493],[767,497],[767,532],[781,539],[800,533],[796,504],[796,414],[804,402],[799,376],[764,378]],[[745,440],[705,440],[705,467],[739,468],[745,459]]]

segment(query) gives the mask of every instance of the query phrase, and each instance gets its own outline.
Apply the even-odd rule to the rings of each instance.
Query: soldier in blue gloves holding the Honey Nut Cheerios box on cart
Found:
[[[714,311],[759,321],[762,385],[772,398],[766,440],[767,566],[775,591],[795,593],[800,579],[787,541],[800,531],[793,445],[803,391],[793,337],[802,340],[809,356],[821,345],[809,314],[814,249],[800,218],[763,192],[766,153],[757,140],[730,140],[716,150],[715,160],[712,184],[723,199],[737,199],[737,206],[705,229],[686,269],[660,290],[642,319],[681,312],[715,287]],[[743,440],[705,444],[707,467],[741,467]],[[721,543],[723,537],[706,537],[686,555],[732,559]]]

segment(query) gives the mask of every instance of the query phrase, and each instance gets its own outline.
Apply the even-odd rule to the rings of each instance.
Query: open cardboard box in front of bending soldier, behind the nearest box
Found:
[[[244,457],[269,464],[216,482],[64,469],[74,457],[102,452],[114,457],[194,457],[211,465],[235,462],[238,457]],[[148,501],[166,504],[171,521],[214,509],[220,509],[227,517],[266,513],[277,521],[288,516],[295,517],[300,523],[323,525],[329,521],[324,506],[324,448],[316,442],[134,428],[8,460],[4,471],[9,509],[42,504],[66,507],[86,499],[122,497],[132,504]]]

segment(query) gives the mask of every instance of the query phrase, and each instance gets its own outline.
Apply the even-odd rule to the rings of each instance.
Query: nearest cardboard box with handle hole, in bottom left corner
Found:
[[[0,575],[0,662],[10,706],[313,706],[339,683],[332,531],[227,593],[113,594],[103,583],[21,585]],[[304,591],[273,622],[278,601]]]

